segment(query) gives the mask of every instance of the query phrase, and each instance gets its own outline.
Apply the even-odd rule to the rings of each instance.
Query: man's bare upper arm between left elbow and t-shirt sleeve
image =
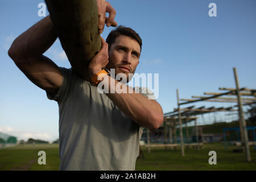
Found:
[[[40,55],[14,61],[26,77],[47,93],[55,95],[63,81],[60,68],[48,57]]]

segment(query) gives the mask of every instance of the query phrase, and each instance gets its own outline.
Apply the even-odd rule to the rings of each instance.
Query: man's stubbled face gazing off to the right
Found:
[[[134,73],[141,56],[138,42],[129,36],[119,35],[109,50],[109,64],[106,68],[115,69],[115,75],[124,73],[129,81],[129,73]]]

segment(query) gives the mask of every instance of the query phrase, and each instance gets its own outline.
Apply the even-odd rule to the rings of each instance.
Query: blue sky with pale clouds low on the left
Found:
[[[0,132],[18,139],[52,141],[59,135],[57,103],[49,101],[7,55],[16,36],[43,18],[38,16],[42,2],[0,1]],[[233,67],[241,87],[256,88],[256,1],[109,2],[117,11],[117,23],[133,28],[143,40],[137,73],[159,73],[157,101],[164,113],[177,107],[176,89],[180,98],[191,98],[220,92],[219,87],[234,88]],[[212,2],[217,5],[217,17],[208,15]],[[102,37],[112,29],[105,27]],[[45,55],[61,67],[70,67],[59,40]],[[233,104],[196,104],[203,105]]]

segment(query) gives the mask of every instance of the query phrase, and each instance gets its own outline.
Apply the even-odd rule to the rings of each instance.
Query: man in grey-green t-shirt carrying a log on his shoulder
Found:
[[[98,12],[109,12],[109,18],[100,23],[116,26],[112,6],[97,2]],[[102,30],[99,25],[99,32]],[[141,89],[142,94],[131,93],[133,89],[125,84],[121,87],[127,93],[110,93],[120,82],[106,74],[98,80],[96,74],[105,67],[115,69],[116,74],[134,73],[141,38],[131,28],[118,27],[108,36],[109,44],[101,39],[101,51],[85,70],[89,75],[86,80],[72,68],[57,67],[43,56],[56,38],[48,16],[16,38],[9,55],[28,79],[59,105],[60,170],[134,170],[143,127],[158,129],[163,122],[162,107],[148,100],[150,92],[142,93]],[[98,83],[92,81],[95,77]],[[99,83],[104,83],[109,92],[100,94]]]

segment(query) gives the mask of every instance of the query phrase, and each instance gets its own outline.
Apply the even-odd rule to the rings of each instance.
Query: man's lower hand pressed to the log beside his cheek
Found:
[[[100,52],[98,52],[97,55],[93,57],[88,66],[90,80],[96,73],[100,72],[102,68],[106,67],[106,65],[109,63],[108,43],[106,43],[105,40],[101,38],[101,44],[102,47]]]

